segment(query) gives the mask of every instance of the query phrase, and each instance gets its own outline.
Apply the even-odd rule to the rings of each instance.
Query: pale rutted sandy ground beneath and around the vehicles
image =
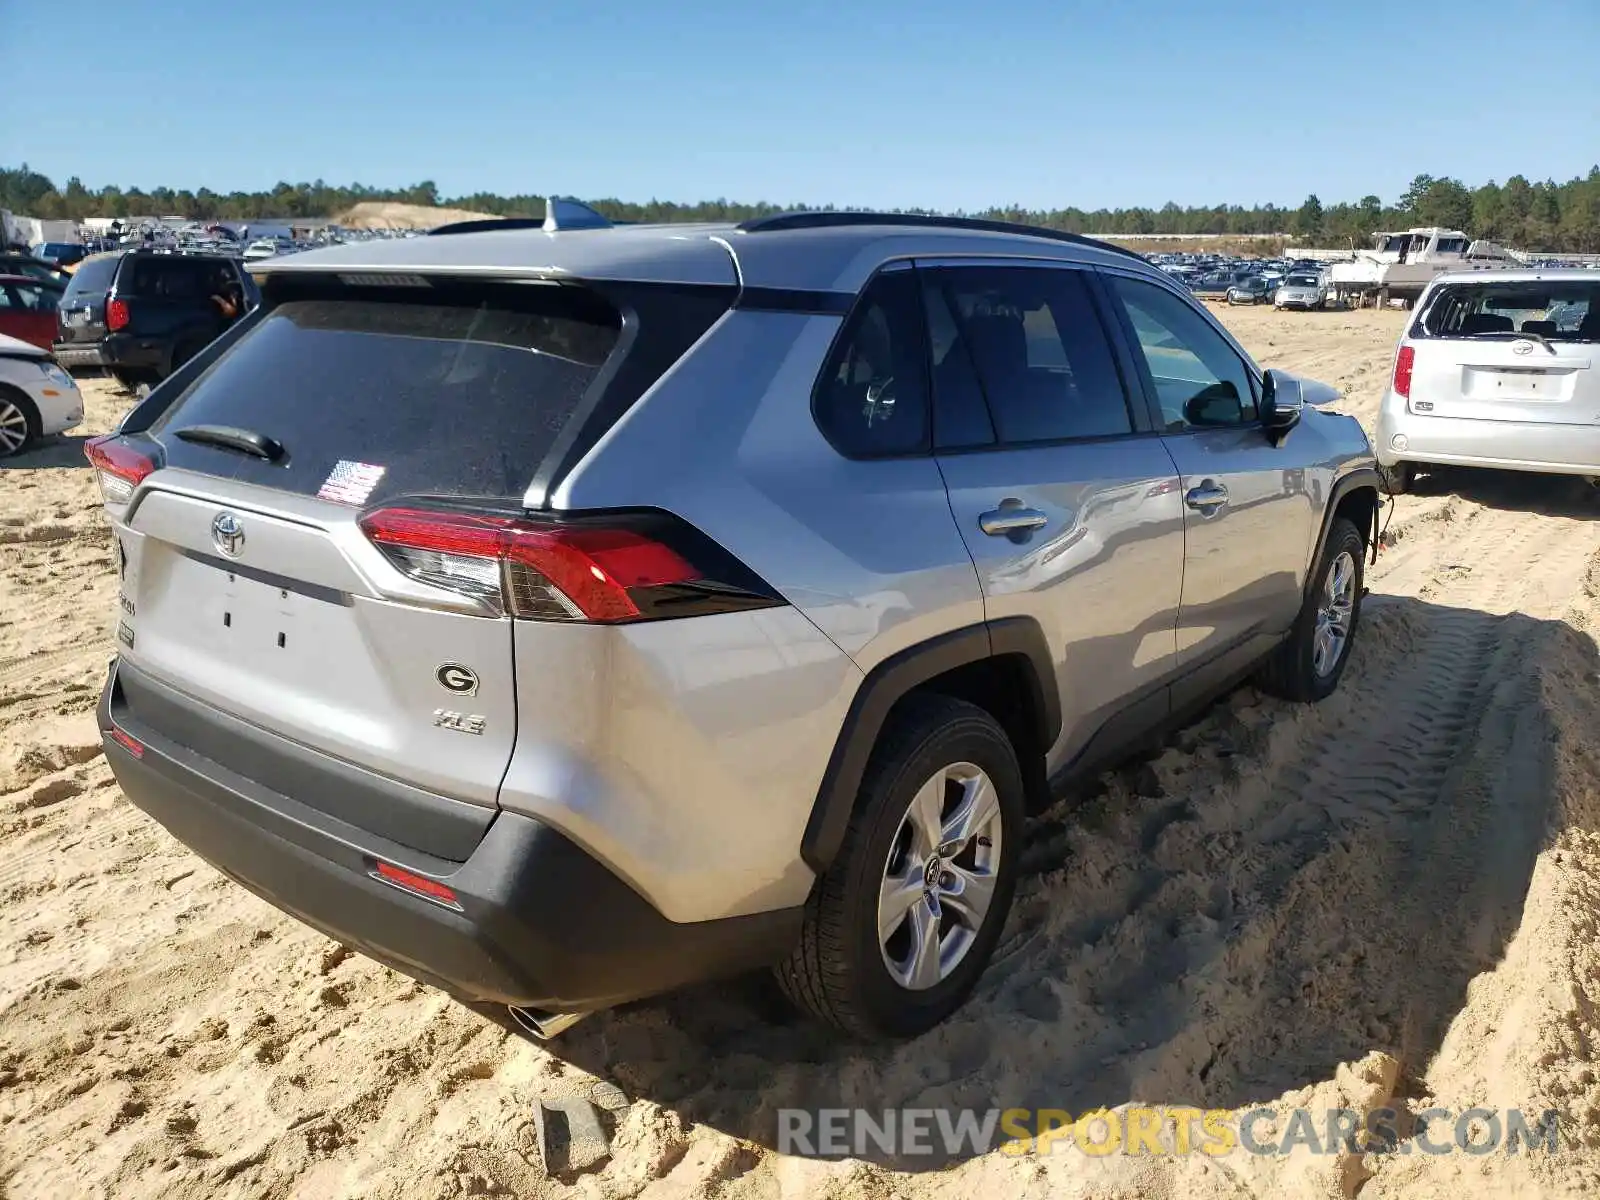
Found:
[[[1373,416],[1400,314],[1224,317]],[[90,432],[128,403],[93,384]],[[1597,514],[1571,480],[1403,498],[1339,693],[1240,690],[1046,814],[1002,954],[934,1034],[843,1046],[741,981],[541,1046],[123,800],[93,730],[110,546],[78,438],[45,446],[0,469],[0,1197],[1597,1195]],[[1402,1150],[1430,1106],[1554,1109],[1562,1147],[774,1149],[781,1107],[1131,1102],[1394,1107]],[[598,1114],[600,1141],[541,1104]]]

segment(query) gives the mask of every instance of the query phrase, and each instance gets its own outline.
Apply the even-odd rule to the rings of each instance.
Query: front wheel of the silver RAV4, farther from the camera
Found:
[[[1360,531],[1334,517],[1294,627],[1261,670],[1262,691],[1315,704],[1339,686],[1362,621],[1365,560]]]

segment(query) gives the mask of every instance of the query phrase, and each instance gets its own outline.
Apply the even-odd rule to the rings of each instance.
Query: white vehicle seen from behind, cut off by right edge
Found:
[[[1432,464],[1600,482],[1600,272],[1434,280],[1395,347],[1378,462],[1390,493]]]

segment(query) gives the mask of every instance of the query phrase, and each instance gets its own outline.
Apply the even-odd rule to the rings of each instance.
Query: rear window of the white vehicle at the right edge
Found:
[[[1549,341],[1600,339],[1600,280],[1446,283],[1411,328],[1411,338],[1483,338],[1517,333]]]

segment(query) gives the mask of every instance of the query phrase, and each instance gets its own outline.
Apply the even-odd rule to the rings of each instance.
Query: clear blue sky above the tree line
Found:
[[[1298,206],[1600,158],[1600,0],[0,0],[0,163],[58,186]]]

